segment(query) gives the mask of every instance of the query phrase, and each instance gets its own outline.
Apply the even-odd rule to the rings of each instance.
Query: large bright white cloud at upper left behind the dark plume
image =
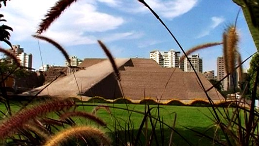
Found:
[[[4,14],[4,18],[7,19],[6,25],[14,29],[11,40],[32,39],[31,35],[35,33],[37,25],[54,3],[53,0],[11,0],[8,8],[1,8],[1,14]],[[82,0],[73,3],[43,35],[51,34],[51,37],[58,42],[72,39],[75,40],[74,44],[90,43],[92,37],[86,37],[87,32],[105,32],[117,29],[123,23],[124,19],[121,17],[99,12],[93,0],[90,2]]]

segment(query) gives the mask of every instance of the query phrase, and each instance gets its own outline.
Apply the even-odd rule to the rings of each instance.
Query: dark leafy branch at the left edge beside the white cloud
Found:
[[[2,14],[0,14],[0,22],[2,22],[2,21],[6,22],[5,19],[1,19],[1,18],[3,18]],[[5,42],[6,44],[8,44],[12,48],[12,44],[9,41],[11,35],[8,32],[8,30],[13,31],[13,29],[11,27],[7,26],[7,25],[2,24],[0,26],[0,41]]]

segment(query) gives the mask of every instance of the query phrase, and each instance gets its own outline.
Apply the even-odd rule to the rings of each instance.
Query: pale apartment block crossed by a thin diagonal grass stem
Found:
[[[202,73],[202,58],[200,58],[199,54],[196,55],[189,55],[188,56],[192,66],[194,67],[194,70],[196,72]],[[190,62],[187,58],[184,59],[184,72],[194,72],[191,68]]]

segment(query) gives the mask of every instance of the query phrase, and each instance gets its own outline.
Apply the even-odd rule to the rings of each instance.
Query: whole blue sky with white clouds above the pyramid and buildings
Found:
[[[37,25],[57,0],[11,0],[0,14],[11,26],[11,43],[33,54],[33,67],[42,63],[38,40],[31,37]],[[224,29],[234,24],[239,11],[232,0],[146,0],[162,18],[185,50],[207,42],[222,41]],[[256,52],[243,14],[237,21],[242,59]],[[106,57],[97,40],[110,49],[114,57],[148,58],[152,50],[180,48],[159,21],[138,0],[77,0],[42,34],[59,42],[69,55],[83,58]],[[8,48],[0,42],[1,47]],[[65,65],[64,56],[51,44],[39,41],[44,64]],[[197,53],[203,58],[203,71],[216,70],[222,46]],[[249,62],[244,64],[249,68]]]

